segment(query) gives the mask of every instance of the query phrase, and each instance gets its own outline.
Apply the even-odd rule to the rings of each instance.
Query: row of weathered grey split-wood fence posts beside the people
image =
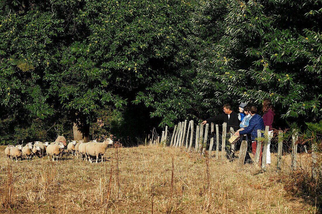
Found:
[[[232,127],[231,127],[232,129]],[[263,171],[266,171],[266,152],[267,152],[267,143],[268,143],[268,130],[269,126],[265,127],[264,131],[264,138],[261,137],[262,131],[257,130],[257,147],[256,153],[254,157],[254,163],[258,164],[260,159],[260,150],[261,144],[262,147],[262,164],[261,168]],[[189,123],[187,120],[184,122],[179,122],[178,125],[175,125],[173,133],[171,135],[171,139],[168,137],[168,126],[166,126],[165,131],[162,131],[161,140],[160,137],[157,136],[155,130],[152,132],[151,135],[146,137],[149,139],[149,145],[163,145],[163,146],[170,146],[170,147],[181,147],[185,148],[188,152],[194,151],[195,153],[205,154],[206,148],[208,148],[208,158],[212,158],[213,152],[213,145],[215,144],[215,155],[214,157],[218,160],[219,159],[219,126],[213,123],[210,124],[210,140],[208,144],[208,133],[209,133],[209,124],[205,126],[203,124],[197,125],[196,129],[194,129],[194,121],[191,120]],[[229,133],[229,132],[228,132]],[[232,136],[232,134],[230,134]],[[283,132],[279,131],[278,134],[278,151],[277,151],[277,165],[276,171],[281,172],[281,163],[282,163],[282,148],[283,148]],[[194,140],[194,141],[193,141]],[[223,123],[223,132],[222,132],[222,144],[221,144],[221,160],[227,158],[234,158],[235,157],[235,145],[234,144],[227,144],[227,124]],[[291,146],[291,169],[297,169],[297,140],[298,140],[298,133],[293,130],[292,135],[292,146]],[[316,176],[316,169],[314,168],[314,163],[316,162],[316,154],[315,154],[315,147],[316,145],[312,145],[312,176]],[[193,150],[194,148],[194,150]],[[239,150],[239,157],[238,163],[244,164],[245,158],[247,155],[247,148],[248,142],[246,140],[242,141],[240,150]]]

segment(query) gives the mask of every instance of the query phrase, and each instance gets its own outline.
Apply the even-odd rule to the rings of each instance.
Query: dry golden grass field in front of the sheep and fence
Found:
[[[0,213],[318,212],[310,200],[287,191],[289,156],[277,174],[275,154],[272,166],[260,173],[254,164],[241,167],[169,147],[118,148],[118,157],[109,148],[107,161],[98,164],[67,154],[58,162],[47,156],[7,162],[4,149]],[[309,169],[309,156],[298,161]]]

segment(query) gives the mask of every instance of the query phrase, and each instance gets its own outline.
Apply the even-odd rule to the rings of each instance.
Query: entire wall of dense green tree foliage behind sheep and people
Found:
[[[321,0],[3,0],[2,139],[45,139],[58,118],[71,136],[75,113],[92,137],[126,137],[115,127],[140,118],[128,119],[129,109],[173,126],[264,98],[280,124],[320,121],[321,8]]]

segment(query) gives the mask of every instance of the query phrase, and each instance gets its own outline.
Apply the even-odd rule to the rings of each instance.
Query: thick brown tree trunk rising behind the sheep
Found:
[[[73,113],[73,134],[74,140],[83,140],[89,142],[90,127],[86,122],[86,115],[77,111]]]

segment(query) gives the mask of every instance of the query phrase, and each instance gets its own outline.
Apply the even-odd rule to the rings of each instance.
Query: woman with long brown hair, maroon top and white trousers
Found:
[[[268,130],[268,143],[267,143],[267,153],[266,153],[266,166],[270,165],[270,141],[273,137],[273,120],[274,120],[274,108],[272,106],[272,102],[270,99],[264,99],[263,100],[263,108],[262,111],[264,112],[263,115],[263,121],[264,121],[264,126],[270,126]]]

